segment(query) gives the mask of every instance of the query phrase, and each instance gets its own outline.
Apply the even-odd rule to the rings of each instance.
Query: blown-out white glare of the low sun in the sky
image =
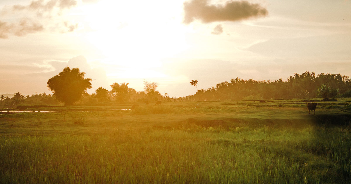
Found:
[[[160,4],[162,8],[155,7]],[[155,5],[147,1],[103,0],[84,7],[85,22],[91,29],[86,39],[104,55],[102,62],[129,68],[121,77],[162,77],[161,72],[150,74],[148,70],[187,47],[181,3],[159,1]]]

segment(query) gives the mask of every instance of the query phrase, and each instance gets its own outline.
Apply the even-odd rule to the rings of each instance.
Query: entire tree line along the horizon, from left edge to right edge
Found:
[[[144,91],[136,91],[128,87],[129,83],[113,83],[111,90],[99,87],[95,93],[86,93],[91,87],[91,79],[79,68],[64,68],[58,75],[47,82],[53,94],[35,94],[24,96],[15,93],[12,97],[1,95],[0,106],[16,106],[21,104],[113,104],[113,103],[152,103],[155,101],[171,101],[169,95],[160,94],[156,90],[158,84],[144,81]],[[194,95],[179,97],[178,101],[218,101],[218,100],[252,100],[252,99],[292,99],[292,98],[332,98],[351,97],[351,81],[349,76],[340,74],[316,74],[306,71],[295,73],[286,81],[256,81],[253,79],[232,79],[220,82],[216,87],[198,89],[197,80],[190,82],[197,92]],[[168,95],[168,96],[167,96]],[[176,100],[176,99],[174,99]]]

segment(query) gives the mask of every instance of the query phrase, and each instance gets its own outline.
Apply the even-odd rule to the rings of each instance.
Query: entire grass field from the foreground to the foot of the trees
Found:
[[[0,183],[350,183],[351,99],[0,114]],[[0,111],[19,109],[2,108]]]

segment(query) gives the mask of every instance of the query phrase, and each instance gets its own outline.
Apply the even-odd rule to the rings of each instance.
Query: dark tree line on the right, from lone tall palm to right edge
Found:
[[[197,83],[197,81],[196,81]],[[191,84],[194,85],[194,84]],[[350,77],[340,74],[295,73],[286,81],[232,79],[216,87],[199,89],[200,101],[351,97]]]

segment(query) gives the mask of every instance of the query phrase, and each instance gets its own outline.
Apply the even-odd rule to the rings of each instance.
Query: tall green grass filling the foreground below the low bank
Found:
[[[0,137],[1,183],[346,183],[348,129]]]

